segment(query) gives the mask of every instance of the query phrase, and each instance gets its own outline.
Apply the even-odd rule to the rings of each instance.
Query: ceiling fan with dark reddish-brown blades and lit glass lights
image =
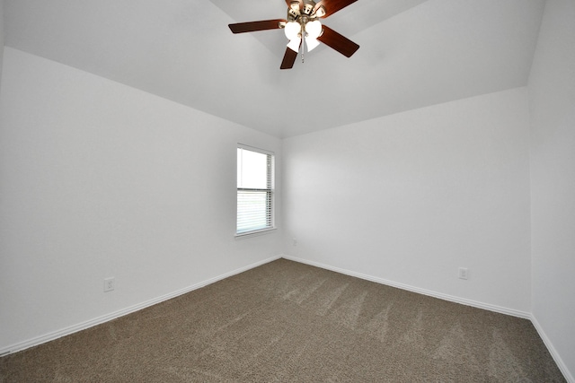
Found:
[[[229,24],[234,33],[254,32],[257,30],[283,29],[289,39],[288,48],[279,66],[280,69],[290,69],[296,62],[299,49],[302,57],[305,46],[307,51],[314,49],[320,42],[340,52],[345,57],[351,57],[359,48],[358,44],[342,36],[319,19],[340,11],[357,0],[286,0],[288,4],[287,20],[273,19],[260,22],[238,22]]]

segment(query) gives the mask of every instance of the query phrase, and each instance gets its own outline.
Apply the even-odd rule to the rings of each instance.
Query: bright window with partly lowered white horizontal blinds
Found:
[[[238,146],[236,236],[274,229],[273,170],[272,152]]]

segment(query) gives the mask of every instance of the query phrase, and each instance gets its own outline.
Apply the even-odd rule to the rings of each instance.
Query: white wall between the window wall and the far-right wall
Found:
[[[296,136],[283,152],[288,256],[528,316],[526,88]]]

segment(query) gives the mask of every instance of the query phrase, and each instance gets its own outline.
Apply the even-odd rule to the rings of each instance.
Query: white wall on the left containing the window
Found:
[[[236,143],[278,138],[13,48],[0,105],[0,350],[279,256],[234,240]]]

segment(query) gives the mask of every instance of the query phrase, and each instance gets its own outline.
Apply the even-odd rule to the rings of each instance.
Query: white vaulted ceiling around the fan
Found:
[[[279,70],[284,0],[4,0],[5,44],[288,137],[526,85],[544,0],[358,0],[323,23],[359,44]]]

